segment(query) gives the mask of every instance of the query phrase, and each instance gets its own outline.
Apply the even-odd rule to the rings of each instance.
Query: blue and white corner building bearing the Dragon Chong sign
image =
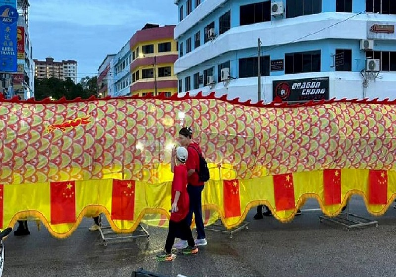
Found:
[[[179,93],[396,98],[395,0],[175,0]],[[312,88],[313,87],[313,88]],[[183,94],[182,94],[183,95]]]

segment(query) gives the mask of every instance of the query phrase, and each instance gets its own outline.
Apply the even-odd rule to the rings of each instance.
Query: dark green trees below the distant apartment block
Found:
[[[78,84],[75,84],[70,78],[65,81],[57,78],[35,79],[34,82],[35,99],[37,101],[51,96],[54,99],[62,97],[67,100],[73,100],[77,97],[88,99],[92,95],[96,95],[97,92],[96,76],[92,78],[87,76]]]

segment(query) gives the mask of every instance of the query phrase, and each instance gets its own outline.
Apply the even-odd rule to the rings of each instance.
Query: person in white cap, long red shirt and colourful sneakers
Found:
[[[172,149],[171,170],[173,172],[172,181],[172,207],[169,220],[168,237],[166,238],[165,250],[158,254],[157,258],[161,261],[172,261],[172,247],[175,242],[177,233],[181,233],[187,238],[188,246],[183,249],[183,254],[196,254],[198,252],[195,246],[193,235],[191,234],[190,225],[186,217],[190,210],[189,195],[187,193],[187,161],[188,152],[184,147]]]

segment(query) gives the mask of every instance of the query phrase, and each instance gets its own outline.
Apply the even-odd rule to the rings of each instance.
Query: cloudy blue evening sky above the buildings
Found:
[[[78,80],[97,75],[146,23],[177,24],[174,0],[29,0],[33,58],[76,60]]]

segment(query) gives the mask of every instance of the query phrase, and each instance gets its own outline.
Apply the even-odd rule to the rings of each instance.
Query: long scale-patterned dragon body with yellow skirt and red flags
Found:
[[[167,226],[170,147],[192,126],[211,179],[206,225],[267,205],[281,222],[307,198],[340,213],[353,194],[382,215],[396,197],[395,103],[288,106],[214,95],[0,101],[0,228],[40,220],[58,238],[103,213],[117,232]]]

